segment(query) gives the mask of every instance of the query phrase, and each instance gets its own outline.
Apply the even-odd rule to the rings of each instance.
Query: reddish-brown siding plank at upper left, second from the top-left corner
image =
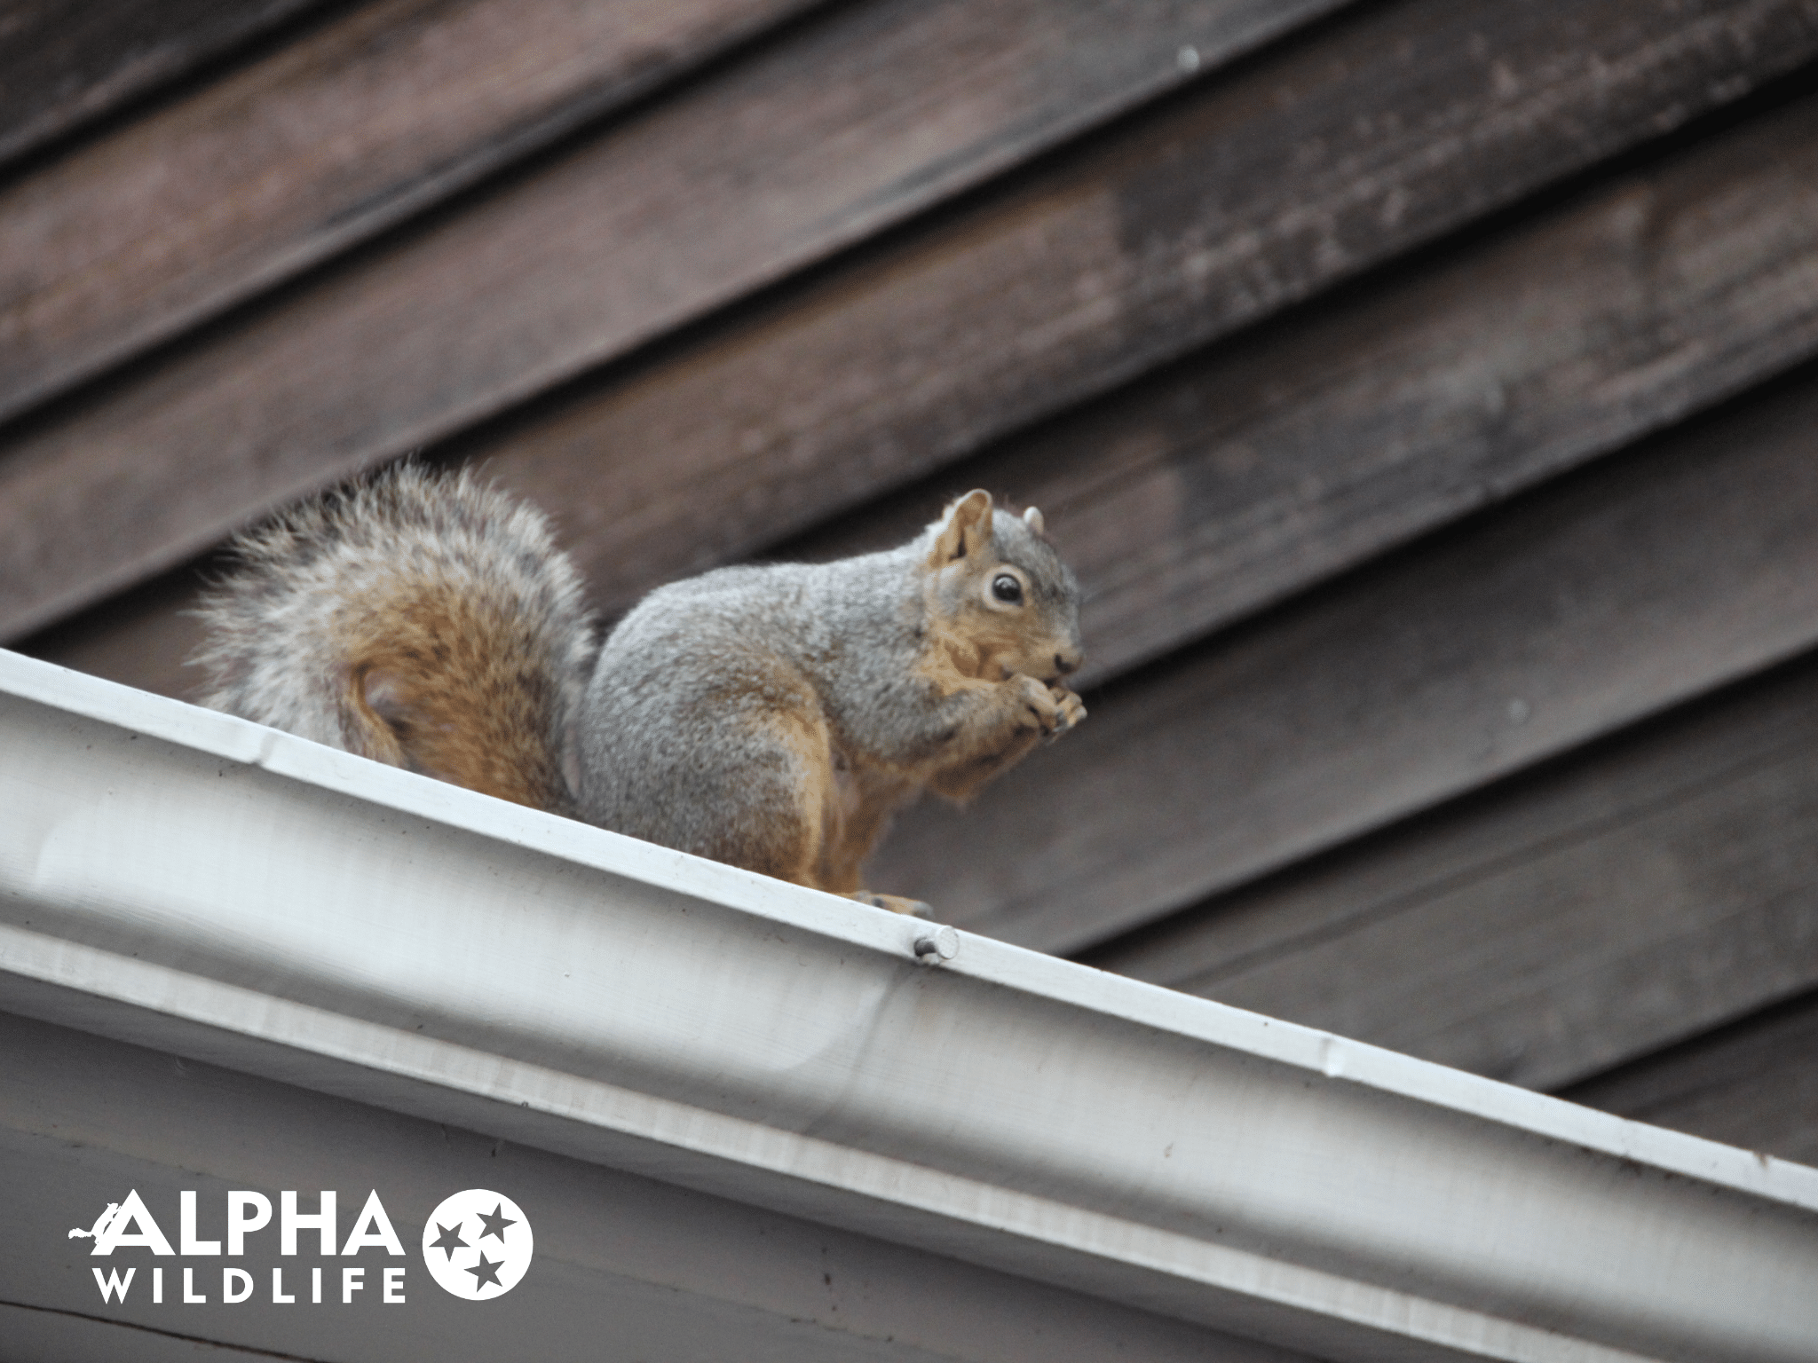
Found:
[[[382,0],[0,189],[0,418],[814,0]]]

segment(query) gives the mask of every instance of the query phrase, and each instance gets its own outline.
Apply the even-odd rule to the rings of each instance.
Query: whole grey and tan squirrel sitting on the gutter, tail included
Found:
[[[896,912],[893,814],[1085,718],[1073,572],[973,491],[907,545],[658,587],[596,642],[547,518],[405,462],[235,542],[202,703]]]

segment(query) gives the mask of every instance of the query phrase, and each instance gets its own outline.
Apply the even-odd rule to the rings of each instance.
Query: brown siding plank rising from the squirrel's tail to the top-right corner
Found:
[[[1809,4],[1358,11],[473,453],[569,509],[616,609],[1753,87],[1818,51],[1814,20]]]

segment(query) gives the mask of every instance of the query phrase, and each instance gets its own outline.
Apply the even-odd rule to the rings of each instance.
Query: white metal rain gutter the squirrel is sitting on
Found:
[[[927,932],[0,652],[4,1010],[1333,1359],[1818,1358],[1818,1170]]]

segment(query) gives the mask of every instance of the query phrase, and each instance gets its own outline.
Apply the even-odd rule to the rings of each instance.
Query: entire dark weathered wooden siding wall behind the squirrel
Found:
[[[102,9],[0,35],[0,636],[184,694],[418,447],[607,612],[991,487],[1091,721],[880,889],[1818,1159],[1818,0]]]

